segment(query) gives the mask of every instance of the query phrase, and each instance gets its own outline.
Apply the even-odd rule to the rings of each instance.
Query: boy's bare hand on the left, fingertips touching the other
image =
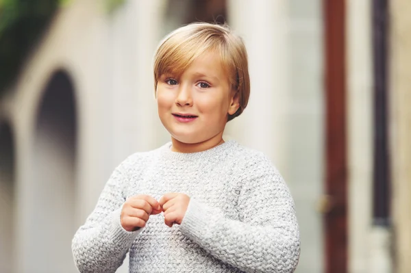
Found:
[[[120,223],[126,231],[136,231],[145,227],[149,216],[161,212],[160,204],[149,195],[127,198],[121,209]]]

